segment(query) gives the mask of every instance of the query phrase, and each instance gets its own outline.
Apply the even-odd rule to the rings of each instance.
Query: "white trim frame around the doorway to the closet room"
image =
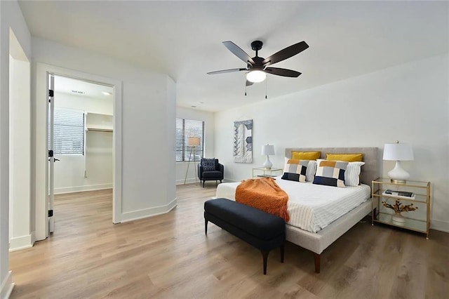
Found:
[[[109,85],[114,88],[114,137],[112,141],[112,222],[121,222],[122,214],[122,83],[119,80],[101,77],[95,74],[78,72],[73,69],[55,67],[36,62],[36,84],[34,85],[34,223],[36,240],[48,237],[48,74],[70,77],[95,84]]]

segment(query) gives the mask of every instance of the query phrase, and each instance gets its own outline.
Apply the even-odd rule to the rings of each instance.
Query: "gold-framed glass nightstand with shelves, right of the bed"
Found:
[[[402,227],[422,232],[426,234],[426,239],[429,239],[430,182],[408,180],[400,184],[387,178],[378,178],[373,180],[371,190],[372,225],[374,222],[380,222]],[[404,209],[406,211],[395,213],[395,210]]]

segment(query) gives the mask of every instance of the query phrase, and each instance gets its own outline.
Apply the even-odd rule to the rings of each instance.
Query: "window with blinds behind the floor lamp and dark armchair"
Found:
[[[200,145],[192,147],[187,144],[187,138],[199,137]],[[191,119],[176,119],[176,161],[199,161],[204,152],[204,121]],[[192,157],[190,154],[192,153]]]

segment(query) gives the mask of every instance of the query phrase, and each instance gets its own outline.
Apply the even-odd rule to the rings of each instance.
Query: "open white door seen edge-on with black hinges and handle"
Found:
[[[55,230],[53,204],[55,201],[55,159],[53,135],[55,129],[55,76],[48,74],[48,234]]]

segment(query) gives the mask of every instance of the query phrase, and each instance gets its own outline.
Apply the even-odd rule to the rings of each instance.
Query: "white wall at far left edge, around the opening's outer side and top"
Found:
[[[7,298],[13,288],[8,261],[10,28],[30,58],[31,36],[17,1],[0,1],[0,298]]]

